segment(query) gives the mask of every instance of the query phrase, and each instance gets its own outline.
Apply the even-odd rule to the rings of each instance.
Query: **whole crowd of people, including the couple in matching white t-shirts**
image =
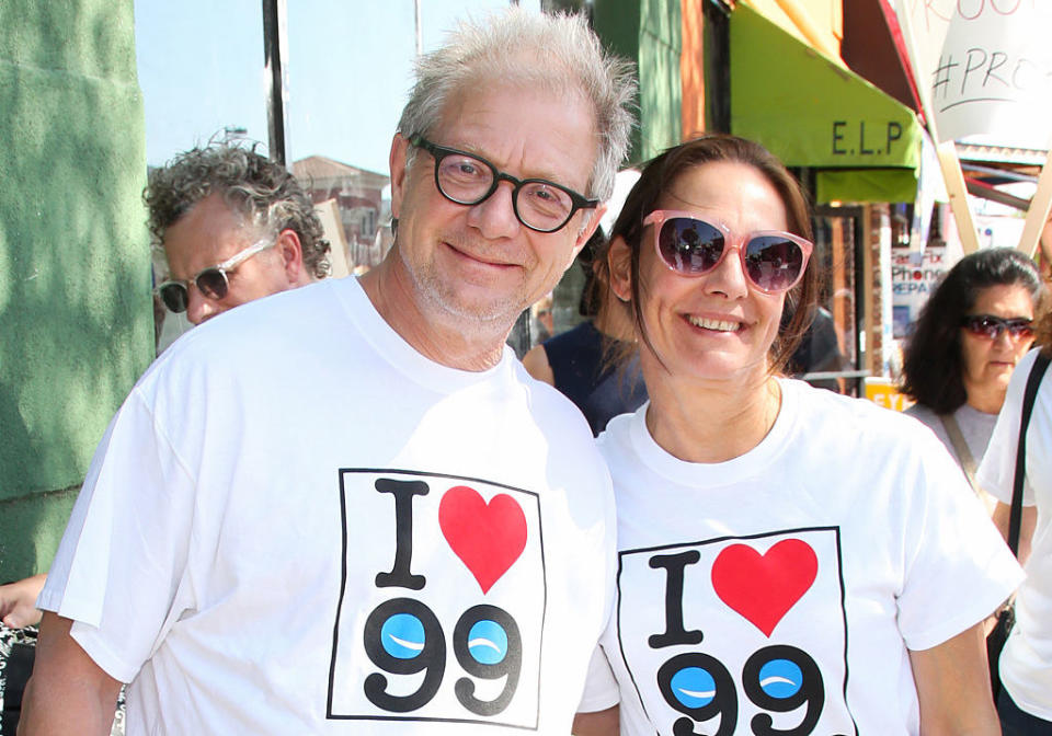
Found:
[[[208,324],[114,417],[46,579],[0,588],[39,621],[20,734],[106,734],[125,683],[129,736],[1049,733],[1048,382],[1018,561],[998,533],[1033,264],[939,287],[921,422],[787,378],[805,194],[707,135],[603,232],[634,93],[580,16],[461,24],[418,61],[358,277],[324,278],[309,198],[252,150],[155,175],[157,295]],[[519,363],[575,260],[587,321]],[[1017,589],[995,705],[984,624]]]

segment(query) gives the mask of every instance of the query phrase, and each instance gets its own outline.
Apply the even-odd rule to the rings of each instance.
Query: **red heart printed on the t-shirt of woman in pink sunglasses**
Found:
[[[712,588],[769,637],[817,574],[814,550],[799,539],[782,540],[764,555],[745,544],[731,544],[712,563]]]

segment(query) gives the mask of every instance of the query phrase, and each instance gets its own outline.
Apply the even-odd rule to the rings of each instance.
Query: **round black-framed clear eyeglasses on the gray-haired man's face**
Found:
[[[511,182],[515,187],[512,189],[515,217],[537,232],[560,230],[579,209],[599,204],[598,199],[587,199],[545,179],[515,179],[485,159],[455,148],[435,146],[420,134],[410,136],[409,142],[434,157],[435,186],[449,202],[469,207],[478,205],[491,197],[501,182]]]

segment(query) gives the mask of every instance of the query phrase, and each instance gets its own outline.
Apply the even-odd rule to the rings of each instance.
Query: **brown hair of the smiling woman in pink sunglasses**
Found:
[[[603,253],[596,260],[603,271],[604,280],[609,280],[607,252],[609,243],[621,238],[631,250],[632,301],[625,304],[632,312],[632,321],[640,338],[653,349],[647,326],[643,323],[640,299],[640,252],[643,242],[643,218],[654,209],[668,188],[691,169],[707,163],[730,161],[752,166],[775,187],[786,207],[789,232],[811,240],[811,211],[800,184],[793,179],[781,161],[770,151],[752,140],[713,134],[679,143],[649,161],[642,175],[632,187],[620,215],[614,222],[610,237]],[[786,309],[792,312],[789,324],[779,331],[770,349],[770,370],[780,371],[808,327],[808,322],[817,302],[817,278],[815,269],[808,267],[800,283],[786,295]]]

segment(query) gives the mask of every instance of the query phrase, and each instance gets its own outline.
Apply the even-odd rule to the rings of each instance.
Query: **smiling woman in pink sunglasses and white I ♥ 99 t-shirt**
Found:
[[[599,438],[617,597],[575,734],[997,733],[982,621],[1019,568],[930,433],[781,376],[812,250],[730,136],[647,164],[614,226],[650,402]]]

